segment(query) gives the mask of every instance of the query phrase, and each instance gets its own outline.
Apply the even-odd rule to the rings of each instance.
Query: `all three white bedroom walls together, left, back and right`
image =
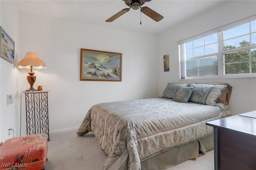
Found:
[[[256,78],[179,80],[176,42],[255,14],[255,1],[227,1],[182,25],[148,35],[81,22],[20,14],[13,1],[0,1],[0,25],[15,41],[15,64],[0,59],[0,141],[8,128],[19,136],[20,92],[29,88],[28,70],[16,65],[27,52],[36,52],[47,68],[36,70],[34,87],[49,90],[50,133],[76,130],[87,110],[96,103],[157,97],[168,82],[227,82],[233,86],[233,115],[256,109]],[[231,8],[232,7],[232,8]],[[123,53],[122,82],[80,81],[80,48]],[[170,72],[164,72],[163,55],[170,56]],[[14,104],[6,95],[14,94]],[[22,94],[22,135],[26,135]],[[242,103],[242,105],[241,105]]]

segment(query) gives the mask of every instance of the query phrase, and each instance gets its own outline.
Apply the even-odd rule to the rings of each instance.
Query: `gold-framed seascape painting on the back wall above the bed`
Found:
[[[122,81],[122,53],[81,49],[80,80]]]

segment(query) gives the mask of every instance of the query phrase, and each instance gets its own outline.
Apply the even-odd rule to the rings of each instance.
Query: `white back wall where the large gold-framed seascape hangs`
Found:
[[[37,76],[34,87],[42,85],[50,91],[50,133],[77,130],[94,104],[158,97],[155,35],[30,14],[19,16],[20,55],[38,53],[47,66],[33,71]],[[122,82],[80,81],[81,48],[122,53]],[[28,70],[20,72],[20,88],[26,90]],[[24,124],[25,117],[22,119]]]

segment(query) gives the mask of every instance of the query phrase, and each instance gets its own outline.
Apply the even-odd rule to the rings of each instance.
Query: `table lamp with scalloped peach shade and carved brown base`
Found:
[[[37,91],[33,88],[34,83],[36,82],[36,76],[34,76],[33,68],[46,68],[46,64],[42,61],[36,53],[27,53],[26,57],[22,59],[18,63],[18,68],[28,68],[30,72],[28,72],[27,80],[30,84],[30,88],[26,91]]]

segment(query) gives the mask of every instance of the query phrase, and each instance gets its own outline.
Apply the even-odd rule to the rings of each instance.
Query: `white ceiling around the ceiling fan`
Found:
[[[120,10],[128,8],[123,0],[16,0],[15,3],[19,12],[158,34],[215,6],[220,6],[225,1],[152,0],[143,6],[148,6],[164,18],[156,22],[141,14],[142,25],[140,10],[132,9],[113,22],[105,22]]]

